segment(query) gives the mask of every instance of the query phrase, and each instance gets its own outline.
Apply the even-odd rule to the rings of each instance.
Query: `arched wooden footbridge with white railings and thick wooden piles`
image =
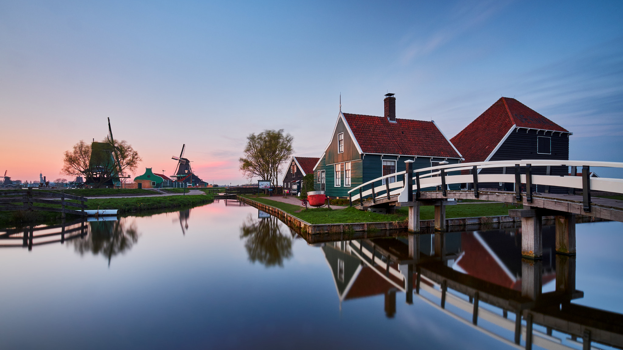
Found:
[[[591,198],[592,191],[623,193],[623,179],[590,177],[591,166],[623,168],[623,163],[587,162],[556,160],[521,160],[495,161],[463,164],[446,164],[423,169],[411,169],[412,161],[405,161],[406,171],[381,176],[349,191],[351,203],[358,201],[355,207],[409,207],[409,230],[419,232],[419,207],[435,206],[435,229],[445,230],[445,206],[456,204],[448,199],[480,199],[523,204],[525,210],[509,210],[509,214],[521,217],[522,254],[529,258],[540,258],[541,219],[543,216],[556,217],[556,251],[567,254],[575,253],[575,218],[576,214],[588,215],[600,219],[623,222],[623,201],[614,199]],[[582,166],[583,176],[534,175],[533,166],[546,168],[546,174],[552,167],[571,166],[572,173]],[[480,174],[485,169],[487,174]],[[490,174],[497,169],[499,174]],[[470,172],[471,174],[463,174]],[[389,182],[401,176],[402,181]],[[386,181],[387,180],[387,181]],[[384,182],[375,187],[375,182]],[[481,191],[480,184],[499,183],[504,188],[513,187],[514,191]],[[461,188],[471,187],[470,191],[450,191],[450,185]],[[364,191],[364,187],[371,188]],[[535,187],[541,186],[544,193],[535,193]],[[549,193],[556,186],[568,187],[569,194]],[[425,189],[437,189],[424,191]],[[522,192],[522,188],[527,189]],[[582,196],[576,196],[575,189],[581,189]],[[369,199],[368,199],[369,198]]]

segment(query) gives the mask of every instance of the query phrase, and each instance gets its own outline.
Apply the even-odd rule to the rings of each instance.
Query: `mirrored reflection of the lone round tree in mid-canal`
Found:
[[[240,239],[246,239],[249,260],[260,262],[265,267],[283,266],[283,260],[292,257],[292,239],[282,234],[279,221],[271,216],[254,219],[250,214],[240,227]]]

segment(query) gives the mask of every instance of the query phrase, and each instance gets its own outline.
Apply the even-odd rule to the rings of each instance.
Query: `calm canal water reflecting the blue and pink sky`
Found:
[[[586,306],[582,310],[623,313],[622,229],[620,222],[577,225],[575,289],[583,296],[571,303]],[[555,293],[556,262],[563,260],[551,253],[551,229],[545,236],[545,255],[536,265],[540,293]],[[434,257],[435,244],[439,252],[444,242],[446,258],[432,270],[446,268],[521,295],[528,265],[517,229],[417,239],[422,259]],[[444,308],[439,283],[426,273],[419,294],[406,287],[411,283],[415,291],[417,280],[405,277],[407,236],[310,245],[254,207],[217,201],[88,222],[82,237],[53,240],[39,239],[30,250],[0,247],[0,349],[525,347],[525,334],[516,346],[509,329],[512,310],[504,318],[501,308],[480,301],[475,325],[473,300],[451,283]],[[582,348],[581,338],[533,327],[541,341],[534,349]]]

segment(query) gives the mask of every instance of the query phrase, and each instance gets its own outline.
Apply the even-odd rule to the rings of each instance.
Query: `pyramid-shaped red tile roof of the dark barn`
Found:
[[[513,125],[569,132],[515,98],[502,97],[450,141],[459,149],[465,162],[485,161]]]

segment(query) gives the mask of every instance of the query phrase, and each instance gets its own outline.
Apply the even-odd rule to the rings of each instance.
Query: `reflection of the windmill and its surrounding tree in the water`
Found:
[[[121,219],[123,220],[123,219]],[[134,222],[126,227],[125,220],[91,221],[90,232],[86,239],[72,240],[76,252],[83,255],[92,252],[102,254],[110,260],[117,254],[125,253],[138,241],[138,232]]]

